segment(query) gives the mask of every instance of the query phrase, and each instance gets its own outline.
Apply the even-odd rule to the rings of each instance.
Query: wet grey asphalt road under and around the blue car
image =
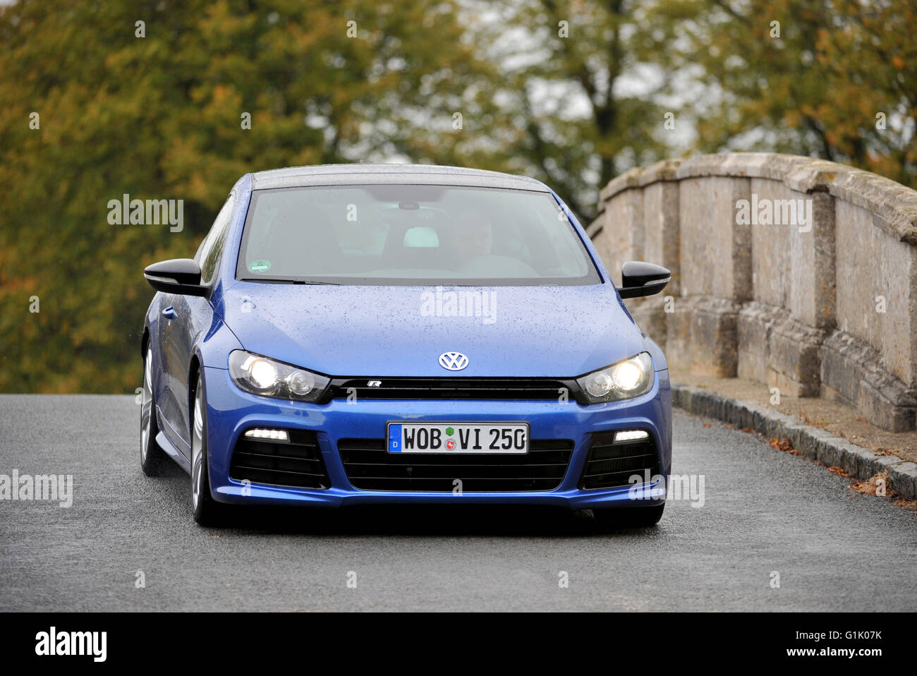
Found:
[[[589,512],[459,506],[203,529],[187,475],[141,474],[138,415],[132,396],[0,396],[0,474],[73,476],[70,508],[0,501],[0,610],[917,610],[917,514],[680,411],[673,471],[704,476],[703,506],[611,535]]]

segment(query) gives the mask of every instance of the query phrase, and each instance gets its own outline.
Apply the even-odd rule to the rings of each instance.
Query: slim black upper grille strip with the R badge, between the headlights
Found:
[[[370,386],[370,382],[379,383]],[[336,378],[325,400],[347,399],[544,400],[577,399],[576,381],[545,378]]]

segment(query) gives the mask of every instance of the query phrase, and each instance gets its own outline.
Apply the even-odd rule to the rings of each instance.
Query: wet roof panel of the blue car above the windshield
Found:
[[[367,184],[460,185],[549,193],[544,183],[510,173],[438,164],[315,164],[252,174],[252,189]]]

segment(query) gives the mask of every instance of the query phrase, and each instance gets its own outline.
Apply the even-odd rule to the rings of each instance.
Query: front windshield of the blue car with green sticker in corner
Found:
[[[551,194],[444,185],[256,190],[237,278],[338,284],[601,283]]]

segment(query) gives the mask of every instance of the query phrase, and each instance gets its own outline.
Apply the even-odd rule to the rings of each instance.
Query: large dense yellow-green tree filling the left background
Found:
[[[427,127],[491,68],[457,17],[451,0],[0,10],[0,391],[133,392],[143,267],[193,254],[243,173],[454,157]],[[182,199],[183,230],[110,225],[122,194]]]

